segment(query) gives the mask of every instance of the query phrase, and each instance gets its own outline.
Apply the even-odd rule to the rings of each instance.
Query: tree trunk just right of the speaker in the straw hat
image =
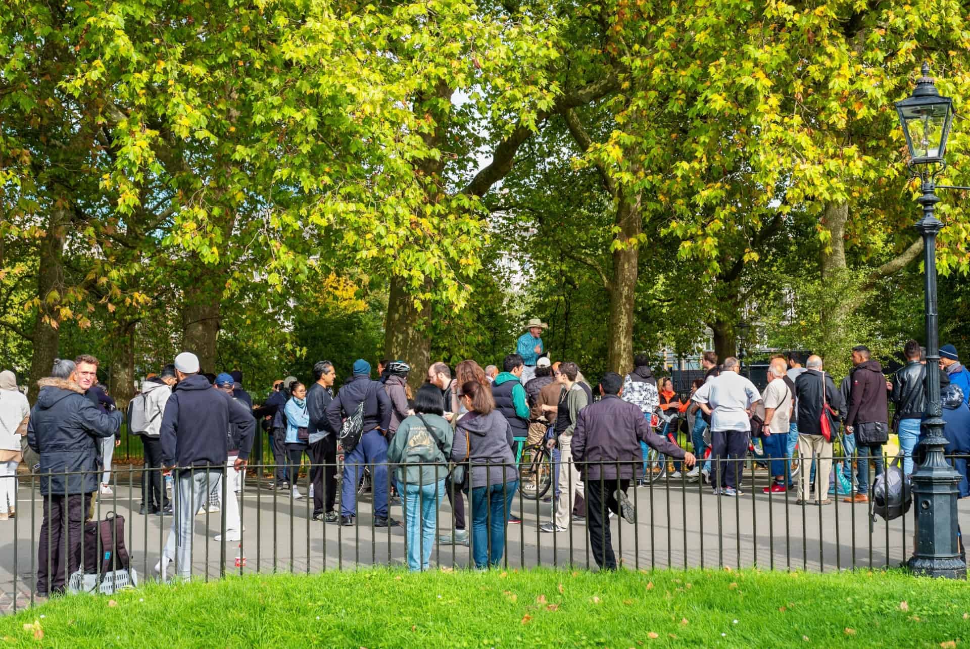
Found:
[[[618,239],[623,246],[613,251],[606,367],[624,375],[633,367],[633,301],[639,261],[637,237],[643,228],[638,194],[628,199],[625,192],[620,192],[616,222],[620,227]]]

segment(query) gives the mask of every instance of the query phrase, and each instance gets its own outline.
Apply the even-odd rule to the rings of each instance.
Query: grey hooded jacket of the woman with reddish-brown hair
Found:
[[[512,428],[498,409],[488,414],[469,412],[458,420],[451,459],[463,462],[466,458],[471,464],[472,489],[518,479],[512,455]]]

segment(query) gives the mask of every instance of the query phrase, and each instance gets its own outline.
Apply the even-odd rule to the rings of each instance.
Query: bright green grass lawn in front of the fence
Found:
[[[150,585],[0,619],[13,646],[38,644],[38,630],[65,647],[970,647],[970,585],[901,572],[369,569]]]

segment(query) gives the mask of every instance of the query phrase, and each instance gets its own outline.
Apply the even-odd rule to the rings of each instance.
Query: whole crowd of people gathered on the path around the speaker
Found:
[[[313,520],[354,525],[358,487],[369,472],[372,526],[402,525],[390,515],[401,505],[413,570],[428,568],[436,542],[470,544],[477,568],[499,564],[507,526],[521,523],[512,513],[520,487],[517,444],[545,445],[553,458],[552,516],[539,530],[558,534],[585,523],[600,568],[616,568],[609,519],[634,521],[628,494],[631,486],[647,484],[654,469],[646,463],[650,449],[662,454],[664,464],[675,463],[673,477],[684,471],[684,479],[709,481],[715,495],[736,497],[753,437],[760,438],[772,476],[765,493],[794,487],[797,446],[802,471],[796,504],[831,503],[830,491],[841,487],[836,474],[853,475],[851,458],[832,471],[837,438],[847,455],[856,455],[851,487],[843,489],[850,503],[868,501],[870,461],[878,476],[890,431],[898,434],[904,471],[912,472],[919,461],[926,395],[924,351],[916,341],[906,343],[908,362],[889,379],[866,347],[855,347],[854,369],[838,387],[819,356],[809,356],[803,366],[797,353],[776,355],[763,394],[740,373],[738,359],[719,364],[705,352],[704,376],[682,399],[669,377],[658,382],[642,354],[630,373],[604,373],[594,386],[575,363],[550,361],[541,339],[545,326],[529,321],[501,372],[474,360],[459,363],[454,373],[433,363],[414,394],[404,360],[382,360],[373,373],[367,360],[358,359],[337,392],[333,363],[320,361],[310,385],[288,376],[254,405],[242,389],[242,373],[201,373],[198,358],[182,352],[146,377],[125,417],[97,385],[98,360],[92,356],[58,359],[29,410],[14,374],[0,373],[0,520],[16,515],[16,480],[2,478],[16,474],[30,449],[39,455],[34,470],[44,505],[37,590],[42,596],[62,592],[65,574],[79,565],[92,497],[111,494],[111,454],[125,419],[129,433],[145,445],[140,511],[172,516],[155,566],[163,578],[173,562],[175,574],[189,576],[197,512],[225,507],[225,538],[216,539],[241,538],[236,494],[254,446],[262,457],[264,432],[275,458],[272,487],[296,500],[312,499]],[[947,451],[965,455],[970,374],[953,345],[942,347],[940,356]],[[891,421],[889,401],[895,406]],[[685,419],[691,422],[691,452],[674,434]],[[345,434],[355,427],[356,436]],[[345,457],[338,503],[339,441]],[[306,495],[298,489],[305,461]],[[963,476],[960,497],[970,496],[966,459],[954,466]],[[171,471],[175,507],[163,471]],[[436,539],[444,497],[453,525],[442,527],[454,532]]]

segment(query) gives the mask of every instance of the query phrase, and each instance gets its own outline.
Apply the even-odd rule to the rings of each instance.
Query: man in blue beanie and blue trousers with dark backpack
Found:
[[[327,424],[339,435],[342,420],[364,404],[364,433],[352,449],[343,449],[343,482],[340,485],[340,525],[349,526],[357,515],[357,485],[364,468],[372,465],[373,525],[386,528],[399,525],[387,510],[387,433],[391,425],[391,400],[380,381],[371,380],[371,364],[362,358],[354,361],[354,375],[343,384],[337,398],[327,406]]]

